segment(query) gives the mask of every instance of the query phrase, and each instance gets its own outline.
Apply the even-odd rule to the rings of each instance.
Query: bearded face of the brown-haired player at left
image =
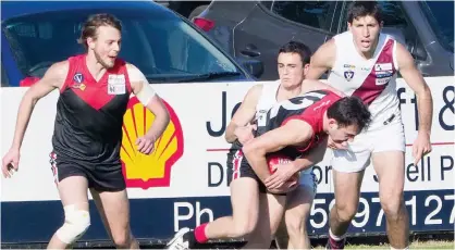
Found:
[[[112,26],[100,26],[97,30],[97,39],[88,45],[94,49],[99,64],[106,68],[114,65],[119,55],[122,36],[120,30]]]

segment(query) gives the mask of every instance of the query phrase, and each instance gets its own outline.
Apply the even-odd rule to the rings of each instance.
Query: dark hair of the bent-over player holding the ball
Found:
[[[368,107],[358,97],[344,97],[327,110],[327,116],[337,122],[339,126],[357,125],[362,130],[371,122]]]

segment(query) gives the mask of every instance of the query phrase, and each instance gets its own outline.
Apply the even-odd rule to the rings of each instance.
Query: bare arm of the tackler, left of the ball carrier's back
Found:
[[[255,85],[246,93],[242,104],[238,107],[237,111],[226,127],[224,138],[228,142],[234,142],[236,139],[238,139],[241,133],[248,133],[247,129],[245,129],[245,132],[241,132],[241,129],[255,117],[256,104],[258,103],[261,90],[262,85]]]

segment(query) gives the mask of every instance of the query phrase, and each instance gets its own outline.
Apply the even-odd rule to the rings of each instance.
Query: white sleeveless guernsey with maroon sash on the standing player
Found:
[[[356,50],[353,34],[345,32],[334,37],[336,60],[329,75],[331,86],[348,96],[357,96],[369,105],[372,122],[378,128],[391,117],[401,118],[396,93],[396,41],[381,34],[374,55],[367,60]]]

